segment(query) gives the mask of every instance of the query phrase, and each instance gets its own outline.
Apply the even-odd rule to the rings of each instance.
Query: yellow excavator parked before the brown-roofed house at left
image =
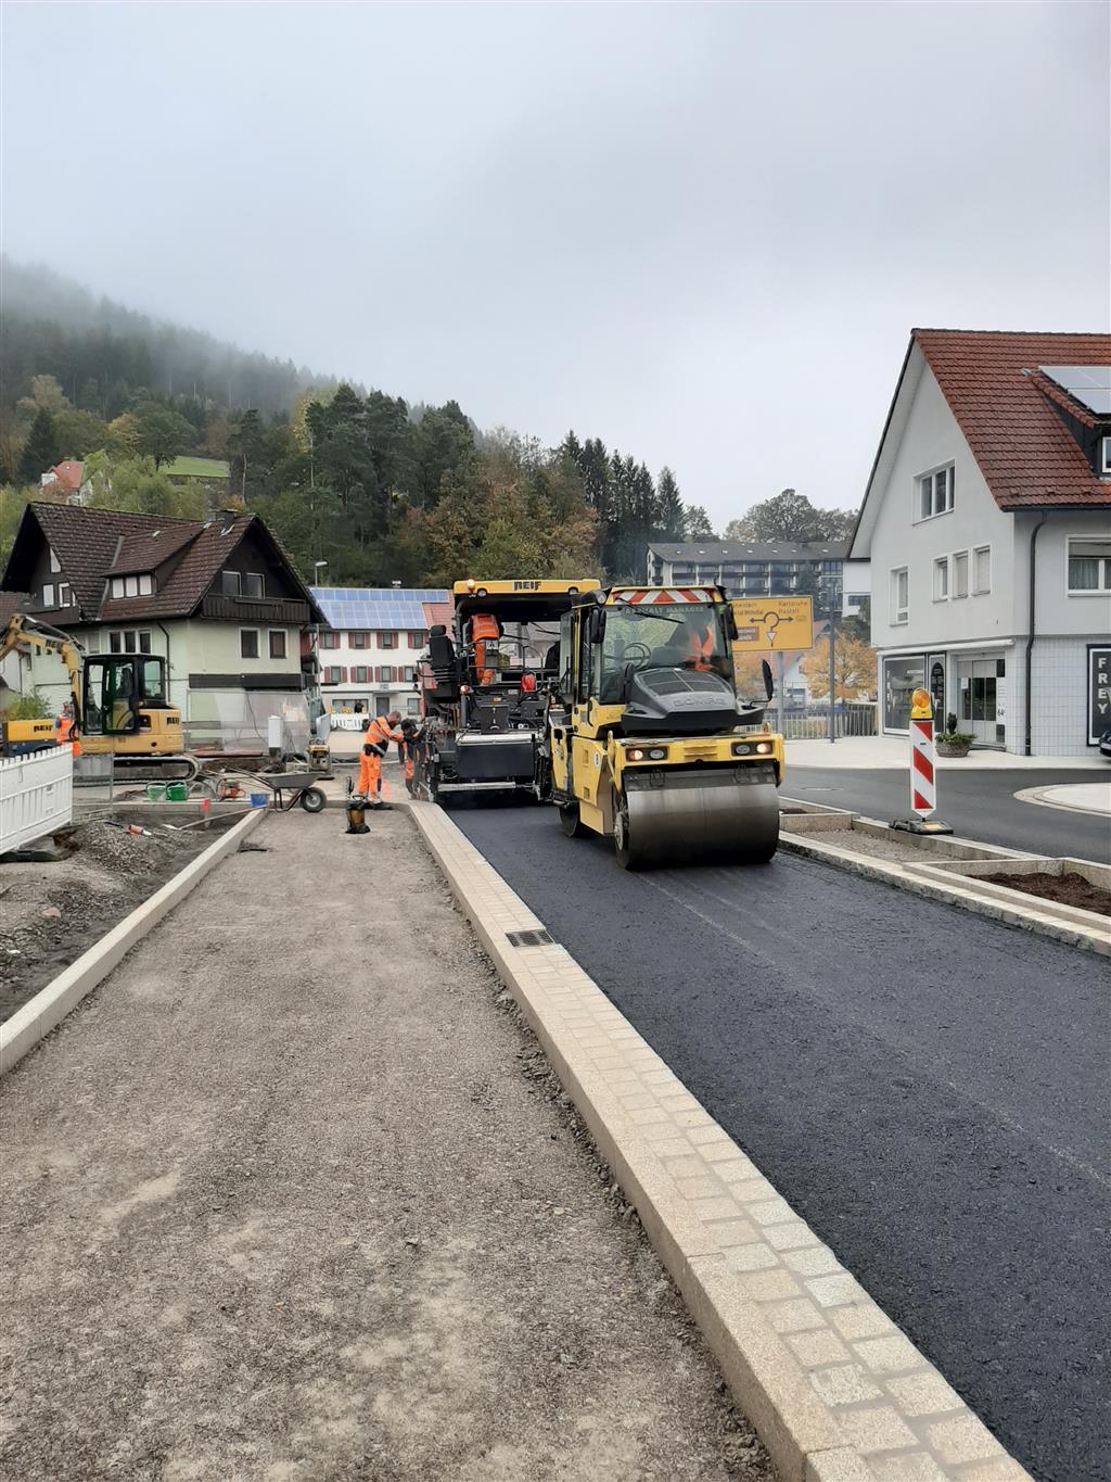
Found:
[[[0,659],[53,654],[70,676],[74,735],[87,756],[111,754],[117,780],[191,780],[198,763],[185,751],[181,711],[166,700],[166,659],[157,654],[84,654],[61,628],[18,612],[0,630]],[[55,744],[53,720],[7,720],[0,754]]]

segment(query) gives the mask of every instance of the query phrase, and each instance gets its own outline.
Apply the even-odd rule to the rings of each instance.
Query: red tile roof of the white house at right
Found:
[[[1044,365],[1111,365],[1111,335],[915,329],[914,339],[1001,510],[1111,505],[1111,482],[1092,470],[1038,375]]]

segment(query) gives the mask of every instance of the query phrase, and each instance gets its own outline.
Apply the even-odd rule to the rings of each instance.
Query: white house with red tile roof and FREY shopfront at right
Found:
[[[880,723],[935,695],[978,745],[1111,728],[1111,335],[915,329],[850,547]]]

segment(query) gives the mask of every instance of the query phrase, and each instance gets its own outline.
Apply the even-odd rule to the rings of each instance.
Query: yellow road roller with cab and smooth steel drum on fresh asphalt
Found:
[[[738,695],[720,587],[584,593],[560,622],[536,793],[563,833],[613,840],[627,870],[760,864],[779,845],[784,738]]]

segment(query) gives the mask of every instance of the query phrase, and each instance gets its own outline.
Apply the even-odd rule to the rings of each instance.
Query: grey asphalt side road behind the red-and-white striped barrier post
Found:
[[[1111,763],[1096,771],[938,771],[938,817],[963,839],[982,839],[1004,849],[1070,855],[1111,864],[1111,823],[1095,814],[1067,812],[1027,803],[1015,793],[1027,787],[1062,782],[1108,782]],[[791,766],[788,756],[784,793],[830,808],[850,808],[867,818],[905,818],[910,812],[908,769]]]

